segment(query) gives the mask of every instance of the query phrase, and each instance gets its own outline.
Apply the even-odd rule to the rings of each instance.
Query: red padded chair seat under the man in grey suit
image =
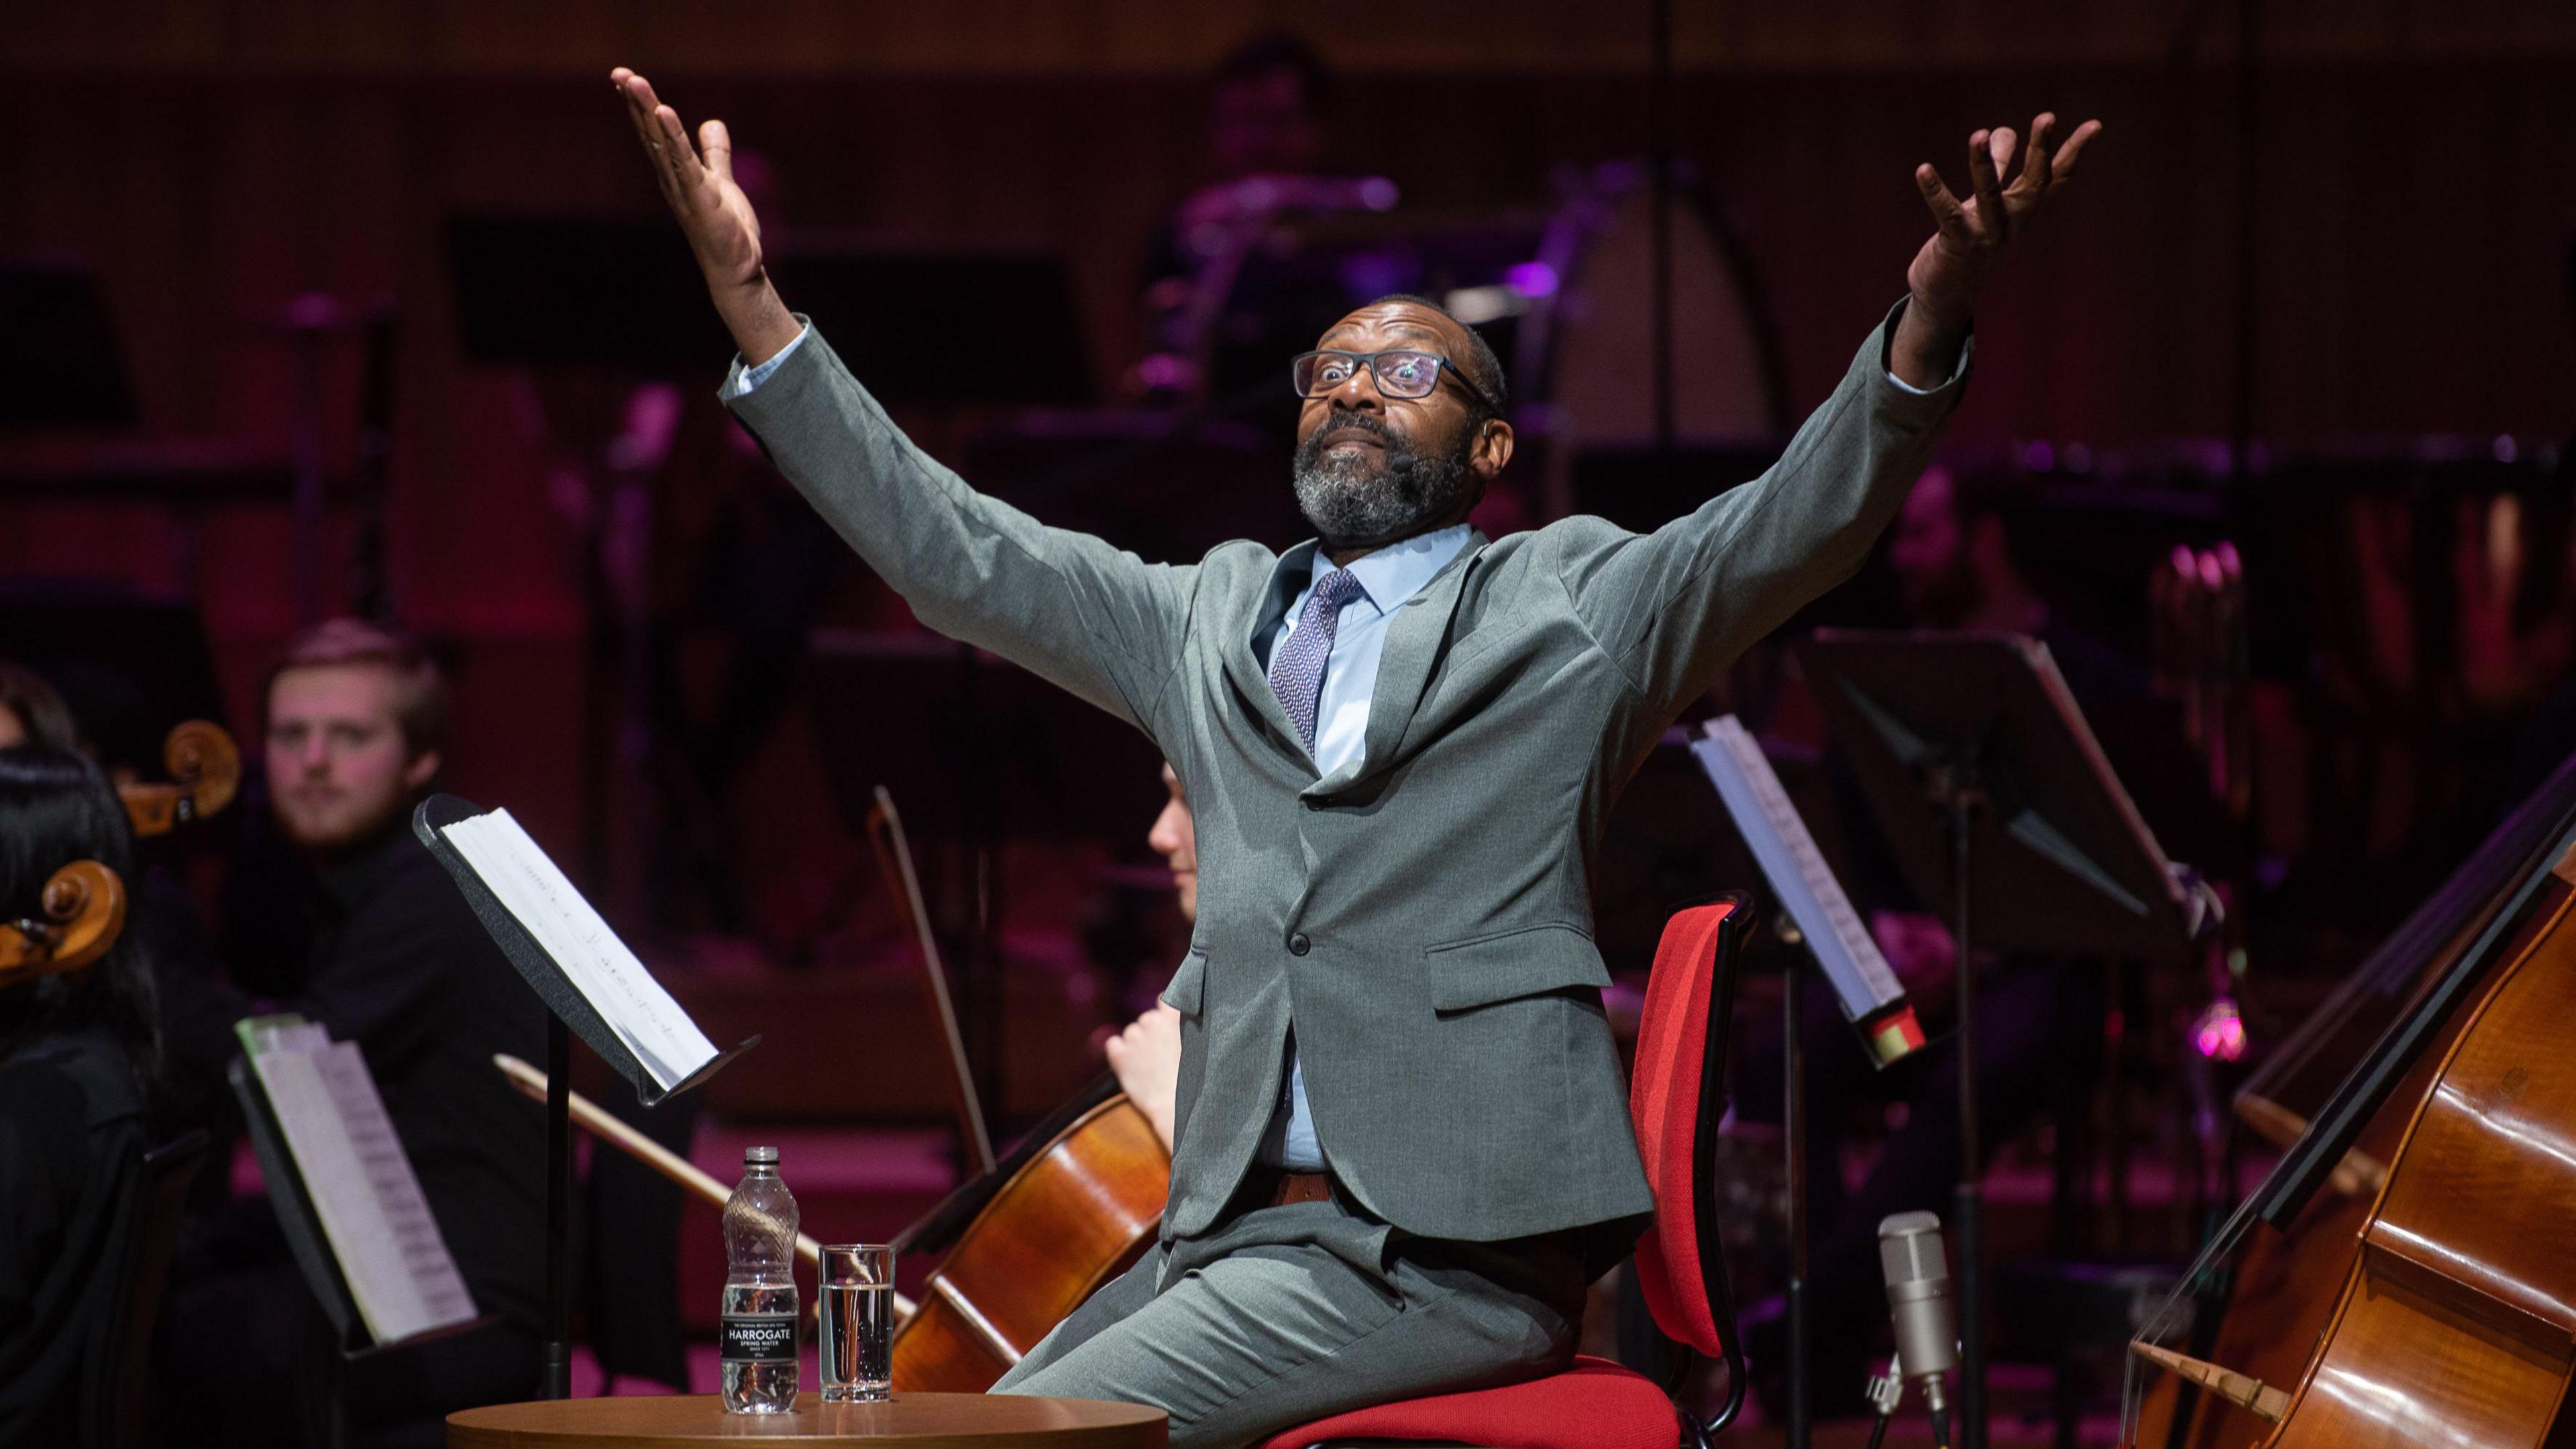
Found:
[[[1370,1408],[1273,1434],[1260,1449],[1337,1439],[1486,1444],[1492,1449],[1674,1449],[1682,1415],[1664,1390],[1610,1359],[1577,1356],[1543,1379]]]

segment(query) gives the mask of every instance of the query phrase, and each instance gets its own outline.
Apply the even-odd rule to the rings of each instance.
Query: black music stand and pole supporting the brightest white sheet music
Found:
[[[412,810],[412,835],[430,848],[464,892],[466,905],[482,928],[500,946],[510,967],[528,982],[528,990],[546,1003],[546,1364],[544,1395],[572,1397],[572,1034],[580,1034],[621,1078],[634,1083],[636,1101],[654,1106],[703,1085],[726,1062],[760,1044],[747,1036],[739,1047],[716,1052],[685,1078],[662,1083],[636,1047],[611,1026],[600,1003],[564,975],[564,967],[520,918],[502,905],[482,871],[456,848],[448,828],[484,815],[482,807],[453,797],[433,794]]]

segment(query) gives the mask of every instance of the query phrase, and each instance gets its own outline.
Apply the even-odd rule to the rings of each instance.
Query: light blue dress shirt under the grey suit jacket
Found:
[[[1314,706],[1314,768],[1319,776],[1355,768],[1368,755],[1368,701],[1378,694],[1378,655],[1386,652],[1386,624],[1406,598],[1422,593],[1422,585],[1458,557],[1466,539],[1468,526],[1458,523],[1437,534],[1417,534],[1401,544],[1386,544],[1350,562],[1350,575],[1360,580],[1360,598],[1342,606],[1342,616],[1332,632],[1332,657],[1324,660],[1324,694]],[[1285,559],[1280,567],[1285,567]],[[1327,572],[1332,572],[1332,559],[1316,547],[1306,565],[1306,588],[1296,590],[1296,598],[1288,601],[1288,616],[1278,621],[1267,639],[1252,639],[1265,670],[1278,647],[1288,642],[1288,634],[1296,634],[1298,614],[1306,611],[1306,596],[1314,593],[1314,580]],[[1262,1137],[1260,1155],[1265,1163],[1293,1173],[1324,1171],[1324,1147],[1314,1140],[1314,1114],[1306,1109],[1306,1065],[1298,1060],[1293,1042],[1288,1044],[1288,1088],[1283,1091],[1278,1116],[1270,1119],[1270,1132]]]

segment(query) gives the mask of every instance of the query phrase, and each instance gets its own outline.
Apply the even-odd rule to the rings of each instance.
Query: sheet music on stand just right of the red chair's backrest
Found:
[[[1896,982],[1868,923],[1852,910],[1852,897],[1842,895],[1842,882],[1824,864],[1816,838],[1780,789],[1780,776],[1772,773],[1752,732],[1734,714],[1721,714],[1708,722],[1705,737],[1690,743],[1690,753],[1718,786],[1726,815],[1752,846],[1772,895],[1806,933],[1816,964],[1834,982],[1842,1013],[1860,1021],[1901,1000],[1906,987]]]

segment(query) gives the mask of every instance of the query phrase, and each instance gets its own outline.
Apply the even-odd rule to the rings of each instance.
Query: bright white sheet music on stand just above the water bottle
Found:
[[[667,1091],[716,1060],[716,1044],[507,810],[459,820],[446,828],[446,838],[654,1083]]]

